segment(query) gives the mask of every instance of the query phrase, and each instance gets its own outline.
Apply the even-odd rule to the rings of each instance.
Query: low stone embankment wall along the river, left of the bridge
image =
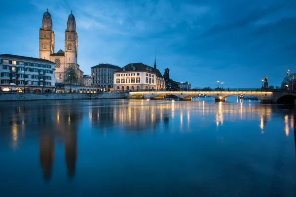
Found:
[[[126,93],[0,93],[0,101],[57,99],[124,99]]]

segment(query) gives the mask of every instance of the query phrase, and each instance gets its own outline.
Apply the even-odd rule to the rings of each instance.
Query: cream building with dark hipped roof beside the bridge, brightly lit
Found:
[[[128,64],[113,74],[116,91],[165,90],[165,81],[156,68],[142,63]]]

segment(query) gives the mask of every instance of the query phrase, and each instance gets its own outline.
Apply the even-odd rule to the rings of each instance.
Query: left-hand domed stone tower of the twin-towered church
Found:
[[[42,18],[42,27],[39,30],[39,58],[50,60],[54,53],[54,32],[52,31],[51,15],[46,9]]]

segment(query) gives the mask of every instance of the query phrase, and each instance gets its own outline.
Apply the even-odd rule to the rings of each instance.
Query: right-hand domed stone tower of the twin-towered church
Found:
[[[65,59],[67,66],[69,64],[77,65],[77,39],[76,21],[71,11],[67,21],[67,30],[65,31]]]

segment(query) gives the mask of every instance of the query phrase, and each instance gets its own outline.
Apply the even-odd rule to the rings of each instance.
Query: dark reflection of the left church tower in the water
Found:
[[[42,166],[43,178],[45,180],[49,180],[54,160],[54,139],[51,134],[45,134],[41,136],[39,149],[40,164]]]

